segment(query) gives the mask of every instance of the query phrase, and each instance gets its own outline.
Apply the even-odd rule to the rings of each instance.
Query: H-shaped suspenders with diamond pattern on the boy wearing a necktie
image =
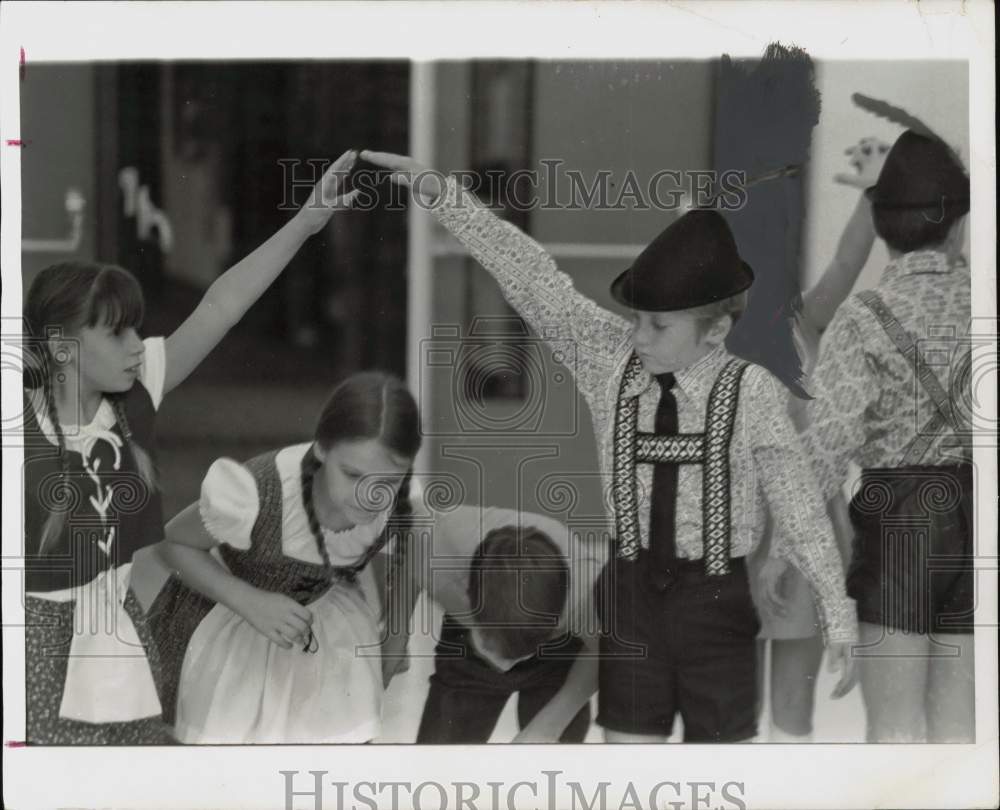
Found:
[[[639,432],[639,398],[624,395],[642,371],[642,361],[636,355],[629,359],[615,413],[612,473],[620,557],[634,559],[641,546],[636,465],[701,464],[705,573],[729,573],[729,444],[736,423],[740,380],[748,365],[734,358],[719,374],[708,398],[704,433],[658,436]]]

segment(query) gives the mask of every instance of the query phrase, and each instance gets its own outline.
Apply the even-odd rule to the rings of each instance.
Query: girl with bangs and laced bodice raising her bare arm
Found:
[[[342,155],[307,205],[223,274],[167,338],[142,340],[127,271],[93,262],[43,270],[24,306],[27,740],[36,745],[170,741],[156,656],[130,590],[133,555],[163,539],[154,423],[302,244],[357,192]],[[139,385],[136,385],[139,382]]]

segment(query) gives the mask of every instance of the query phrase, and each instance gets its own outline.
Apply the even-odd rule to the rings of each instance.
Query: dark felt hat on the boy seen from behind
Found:
[[[884,209],[969,210],[969,177],[951,149],[938,138],[908,129],[896,140],[878,181],[865,191]]]

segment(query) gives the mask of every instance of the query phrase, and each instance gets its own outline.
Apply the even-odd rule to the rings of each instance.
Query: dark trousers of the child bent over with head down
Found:
[[[524,728],[562,688],[582,648],[579,638],[565,636],[545,644],[541,654],[500,672],[476,655],[469,631],[446,615],[417,742],[489,742],[514,693],[518,725]],[[590,704],[585,703],[563,731],[560,742],[583,742],[589,728]]]

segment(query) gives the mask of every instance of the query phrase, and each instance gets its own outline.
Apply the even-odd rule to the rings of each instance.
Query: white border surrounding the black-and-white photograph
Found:
[[[358,32],[363,32],[359,36]],[[485,35],[488,32],[488,35]],[[484,57],[601,59],[757,56],[773,41],[817,59],[962,59],[970,66],[973,315],[996,321],[994,11],[966,2],[784,0],[673,3],[4,3],[0,6],[2,314],[21,314],[18,64],[159,59]],[[29,147],[30,148],[30,147]],[[21,394],[3,388],[5,415]],[[980,403],[996,416],[995,392]],[[15,410],[16,409],[16,410]],[[20,550],[17,448],[3,449],[3,554]],[[538,780],[561,771],[589,796],[612,783],[609,807],[633,784],[640,796],[663,781],[745,783],[747,807],[986,807],[997,782],[995,448],[978,447],[977,503],[985,592],[977,610],[975,745],[811,746],[282,746],[177,748],[10,747],[24,728],[23,607],[4,590],[4,793],[10,806],[267,808],[285,806],[282,770],[334,781],[437,780],[483,785]],[[4,574],[7,580],[7,572]],[[19,618],[21,617],[21,618]],[[429,793],[424,806],[432,807]],[[512,807],[561,808],[565,795],[500,794]],[[452,795],[449,806],[455,806]],[[484,800],[485,801],[485,800]],[[297,799],[295,806],[313,807]],[[323,807],[336,807],[332,788]],[[351,806],[350,803],[345,806]],[[363,803],[358,806],[365,806]],[[405,806],[405,805],[403,805]],[[489,803],[476,805],[489,806]],[[506,806],[506,805],[504,805]],[[626,805],[631,806],[631,805]]]

